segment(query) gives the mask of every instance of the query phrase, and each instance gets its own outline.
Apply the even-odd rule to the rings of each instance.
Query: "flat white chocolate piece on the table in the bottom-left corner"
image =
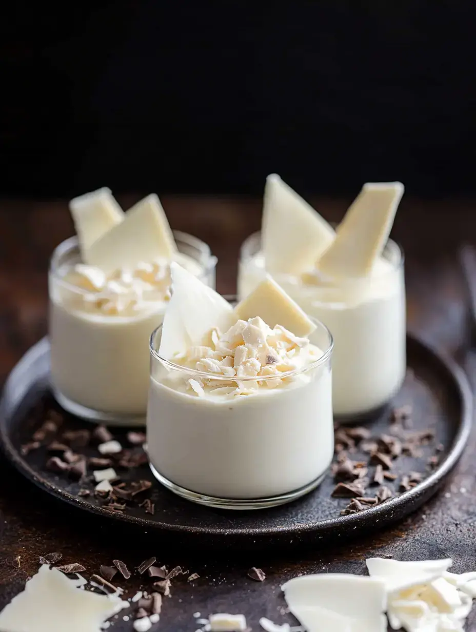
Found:
[[[128,607],[115,595],[80,590],[83,581],[70,580],[56,568],[40,566],[0,612],[3,632],[100,632],[113,614]]]

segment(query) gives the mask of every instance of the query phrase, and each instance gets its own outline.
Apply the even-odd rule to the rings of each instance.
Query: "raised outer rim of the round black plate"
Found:
[[[369,507],[365,510],[365,523],[374,520],[375,522],[381,521],[381,525],[384,526],[394,520],[398,520],[412,512],[420,504],[429,499],[429,497],[436,492],[441,483],[448,477],[453,468],[455,468],[461,454],[465,449],[468,438],[470,436],[472,428],[473,418],[473,393],[468,381],[467,375],[458,363],[456,363],[451,356],[437,348],[434,344],[424,341],[422,337],[418,336],[412,331],[406,332],[407,344],[410,341],[411,344],[423,349],[424,353],[432,356],[434,362],[443,368],[444,371],[453,381],[453,386],[456,387],[460,398],[461,415],[458,423],[458,430],[456,432],[453,443],[449,448],[448,454],[444,460],[437,466],[437,468],[425,478],[424,481],[418,483],[412,489],[403,492],[402,494],[389,499],[388,501]],[[21,475],[33,482],[40,490],[47,492],[54,496],[56,499],[63,502],[67,502],[71,506],[78,509],[83,509],[90,514],[107,518],[108,520],[118,521],[121,524],[129,524],[135,526],[142,526],[145,528],[154,528],[157,532],[180,534],[186,533],[187,535],[199,535],[205,537],[274,537],[274,536],[308,536],[314,534],[319,537],[320,532],[327,532],[332,529],[333,526],[339,528],[348,527],[349,530],[356,530],[360,526],[363,526],[363,514],[356,513],[347,516],[336,516],[336,518],[327,518],[326,520],[310,521],[302,523],[302,525],[295,526],[273,526],[273,527],[247,527],[247,528],[223,528],[223,527],[198,527],[192,525],[171,525],[161,521],[152,521],[148,518],[139,518],[137,516],[120,515],[107,511],[107,509],[91,504],[77,496],[66,492],[47,480],[43,480],[39,477],[37,471],[28,465],[27,461],[23,459],[20,453],[16,450],[11,442],[8,434],[8,428],[6,424],[6,415],[4,413],[4,393],[8,389],[8,386],[16,382],[21,375],[25,367],[33,362],[32,358],[38,359],[40,356],[48,353],[49,341],[47,337],[42,338],[38,343],[35,343],[28,351],[20,358],[15,367],[9,373],[2,389],[0,399],[0,447],[5,454],[8,461],[13,465],[16,470],[20,471]],[[171,493],[171,492],[170,492]],[[413,501],[413,502],[412,502]],[[403,507],[405,509],[401,510]],[[407,511],[408,509],[408,511]],[[389,515],[390,514],[390,515]],[[392,515],[396,516],[392,519]]]

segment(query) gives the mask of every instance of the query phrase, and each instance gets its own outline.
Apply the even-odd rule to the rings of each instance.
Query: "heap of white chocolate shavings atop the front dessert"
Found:
[[[295,379],[292,372],[308,367],[320,356],[322,351],[307,338],[295,336],[281,325],[271,329],[255,317],[238,320],[224,333],[212,329],[202,345],[176,355],[173,362],[210,375],[185,375],[190,394],[236,396],[252,394],[261,387],[286,386]]]

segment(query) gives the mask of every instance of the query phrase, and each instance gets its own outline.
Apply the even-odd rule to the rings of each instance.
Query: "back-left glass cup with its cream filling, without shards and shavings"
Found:
[[[197,238],[174,231],[178,251],[200,265],[214,288],[217,258]],[[85,311],[83,288],[64,276],[81,262],[78,240],[63,241],[49,269],[51,387],[73,415],[110,425],[144,425],[149,389],[150,332],[161,324],[165,303],[134,315]]]

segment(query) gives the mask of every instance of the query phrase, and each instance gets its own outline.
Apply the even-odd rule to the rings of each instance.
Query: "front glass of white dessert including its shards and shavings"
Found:
[[[178,264],[150,339],[147,452],[176,494],[231,509],[314,489],[334,449],[327,328],[271,278],[232,307]]]

